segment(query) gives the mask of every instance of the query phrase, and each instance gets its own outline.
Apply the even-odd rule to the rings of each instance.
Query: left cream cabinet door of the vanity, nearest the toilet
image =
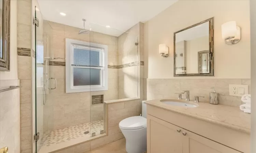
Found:
[[[179,126],[147,115],[147,153],[182,153]]]

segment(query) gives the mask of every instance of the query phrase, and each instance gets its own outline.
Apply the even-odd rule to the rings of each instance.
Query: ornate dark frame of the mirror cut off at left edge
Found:
[[[10,0],[3,0],[2,16],[2,57],[0,58],[0,70],[10,71]]]

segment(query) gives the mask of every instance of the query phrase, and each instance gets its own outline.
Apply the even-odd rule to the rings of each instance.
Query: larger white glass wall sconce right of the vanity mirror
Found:
[[[237,26],[236,21],[229,21],[221,26],[222,38],[227,45],[237,44],[241,40],[241,28]]]

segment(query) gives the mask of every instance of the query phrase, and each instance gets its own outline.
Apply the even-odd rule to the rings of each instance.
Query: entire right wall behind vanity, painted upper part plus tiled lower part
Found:
[[[237,10],[241,13],[233,16]],[[182,0],[146,22],[146,99],[176,98],[175,92],[190,90],[190,100],[193,100],[194,96],[204,96],[205,98],[200,100],[209,102],[210,87],[215,87],[220,104],[240,105],[240,97],[229,96],[228,90],[229,84],[245,84],[249,87],[251,84],[249,10],[248,0],[237,0],[232,3],[228,0]],[[173,77],[173,33],[211,17],[214,17],[214,77]],[[242,29],[242,39],[236,45],[226,45],[222,39],[221,25],[230,20],[235,20]],[[169,47],[170,55],[167,58],[162,58],[158,54],[158,45],[162,43]]]

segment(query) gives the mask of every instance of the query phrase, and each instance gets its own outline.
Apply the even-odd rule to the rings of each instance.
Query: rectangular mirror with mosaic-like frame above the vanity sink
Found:
[[[174,33],[174,77],[214,76],[213,18]]]

